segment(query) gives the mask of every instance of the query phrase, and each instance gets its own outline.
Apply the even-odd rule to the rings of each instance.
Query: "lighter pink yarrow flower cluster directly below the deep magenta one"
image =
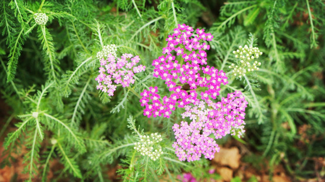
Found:
[[[222,98],[221,102],[208,100],[200,101],[194,106],[185,106],[182,118],[190,118],[190,125],[182,121],[180,126],[173,126],[176,139],[173,148],[179,160],[199,160],[202,154],[206,159],[213,159],[214,153],[219,152],[219,147],[210,134],[215,139],[221,139],[229,133],[242,135],[245,132],[243,119],[247,104],[242,93],[236,91],[228,94],[227,98]]]

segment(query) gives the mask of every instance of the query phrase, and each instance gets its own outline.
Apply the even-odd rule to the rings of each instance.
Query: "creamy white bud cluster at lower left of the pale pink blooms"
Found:
[[[161,141],[161,135],[158,133],[151,133],[150,136],[140,135],[140,142],[134,143],[134,149],[141,155],[148,156],[151,160],[156,161],[163,154],[163,151],[161,146],[154,147],[154,145]]]

